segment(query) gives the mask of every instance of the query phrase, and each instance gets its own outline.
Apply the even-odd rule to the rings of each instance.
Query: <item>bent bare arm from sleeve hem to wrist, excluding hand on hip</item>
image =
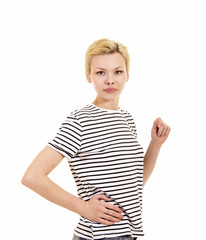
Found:
[[[66,192],[48,177],[63,158],[60,153],[46,146],[26,170],[22,184],[47,200],[80,214],[84,201]]]

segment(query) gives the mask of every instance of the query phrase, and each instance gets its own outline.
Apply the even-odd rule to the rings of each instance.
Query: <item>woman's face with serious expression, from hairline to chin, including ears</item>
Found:
[[[118,100],[128,79],[125,60],[120,53],[92,58],[91,73],[87,75],[87,80],[93,84],[98,98],[106,101]]]

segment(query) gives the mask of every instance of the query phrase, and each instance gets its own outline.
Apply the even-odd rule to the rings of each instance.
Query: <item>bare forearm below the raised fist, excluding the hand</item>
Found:
[[[143,185],[145,185],[153,172],[160,148],[161,144],[159,142],[151,140],[144,157]]]

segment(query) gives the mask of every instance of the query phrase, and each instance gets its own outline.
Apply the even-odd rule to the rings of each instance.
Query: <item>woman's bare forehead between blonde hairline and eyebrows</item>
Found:
[[[92,57],[91,68],[113,69],[119,66],[125,67],[125,60],[121,53],[112,53],[104,55],[96,55]]]

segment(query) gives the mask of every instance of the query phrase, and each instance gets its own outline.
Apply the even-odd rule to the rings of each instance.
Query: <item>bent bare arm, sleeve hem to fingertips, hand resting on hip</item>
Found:
[[[92,221],[106,225],[119,222],[122,219],[122,211],[118,207],[107,203],[106,201],[109,199],[106,196],[94,196],[90,201],[85,202],[62,189],[48,177],[48,174],[63,158],[63,155],[46,146],[26,170],[22,178],[22,184],[45,199]]]

